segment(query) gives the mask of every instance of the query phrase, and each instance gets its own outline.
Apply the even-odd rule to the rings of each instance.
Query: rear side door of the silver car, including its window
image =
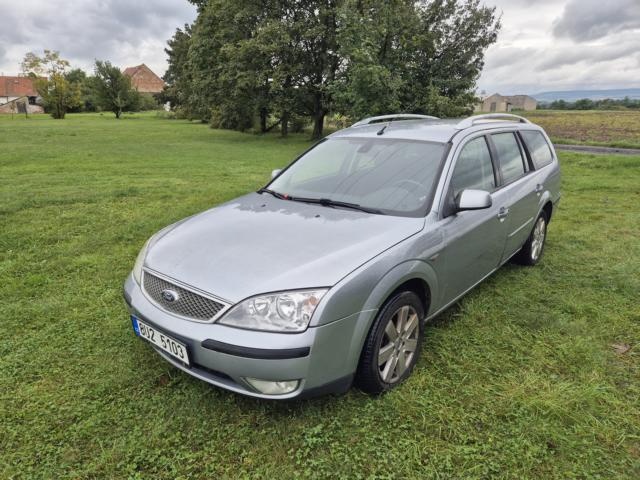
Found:
[[[538,213],[537,174],[526,159],[520,138],[513,131],[493,133],[489,142],[499,168],[501,191],[506,195],[507,239],[502,260],[516,253],[529,237]]]

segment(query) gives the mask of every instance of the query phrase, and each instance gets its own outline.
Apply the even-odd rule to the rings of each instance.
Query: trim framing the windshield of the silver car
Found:
[[[289,165],[287,165],[285,168],[282,169],[282,171],[276,175],[274,178],[272,178],[264,187],[262,187],[261,189],[259,189],[257,191],[257,193],[260,193],[261,191],[264,191],[265,189],[269,189],[270,190],[270,186],[273,182],[275,182],[278,177],[280,177],[280,175],[282,175],[284,172],[286,172],[287,170],[289,170],[289,168],[291,168],[293,165],[295,165],[298,160],[300,160],[302,157],[304,157],[307,153],[309,153],[311,150],[313,150],[314,148],[316,148],[318,145],[320,145],[321,143],[324,143],[326,141],[330,141],[330,140],[350,140],[350,139],[360,139],[360,140],[374,140],[374,141],[386,141],[386,140],[392,140],[392,139],[385,139],[385,138],[372,138],[370,136],[366,136],[366,135],[345,135],[345,136],[337,136],[337,137],[325,137],[322,140],[314,143],[311,147],[309,147],[308,149],[306,149],[304,152],[302,152],[300,155],[298,155],[291,163],[289,163]],[[390,209],[386,209],[386,208],[375,208],[374,210],[379,210],[380,213],[371,213],[371,215],[389,215],[392,217],[412,217],[412,218],[420,218],[420,217],[425,217],[432,209],[433,207],[433,201],[436,195],[436,190],[438,187],[438,183],[440,182],[440,177],[442,176],[442,171],[444,168],[444,165],[446,163],[446,159],[449,156],[449,152],[451,151],[451,146],[452,143],[451,142],[436,142],[433,140],[418,140],[418,139],[413,139],[413,138],[393,138],[393,140],[397,140],[397,141],[403,141],[403,142],[411,142],[411,143],[428,143],[428,144],[432,144],[432,145],[441,145],[443,147],[443,152],[442,152],[442,157],[439,160],[439,165],[438,168],[436,170],[436,175],[434,176],[433,179],[433,183],[431,185],[431,188],[429,190],[429,194],[427,195],[427,198],[425,199],[424,203],[420,206],[420,208],[417,208],[415,210],[411,210],[411,211],[402,211],[402,210],[390,210]],[[286,199],[286,197],[288,196],[288,194],[282,193],[282,192],[277,192],[279,194],[281,194],[283,197],[283,200],[285,201],[289,201]],[[354,210],[356,211],[356,210]]]

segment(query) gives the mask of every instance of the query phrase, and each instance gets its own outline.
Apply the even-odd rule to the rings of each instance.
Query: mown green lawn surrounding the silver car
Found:
[[[0,478],[640,478],[637,157],[562,153],[542,263],[437,318],[382,397],[245,398],[136,338],[121,291],[144,241],[308,146],[0,116]]]

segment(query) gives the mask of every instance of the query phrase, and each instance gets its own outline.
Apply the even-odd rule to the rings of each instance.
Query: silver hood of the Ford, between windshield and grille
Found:
[[[145,266],[228,302],[329,287],[419,232],[424,218],[280,200],[252,193],[165,229]]]

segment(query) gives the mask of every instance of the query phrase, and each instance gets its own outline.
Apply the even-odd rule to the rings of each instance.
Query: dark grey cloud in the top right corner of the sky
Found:
[[[584,42],[638,28],[638,0],[570,0],[553,23],[553,34]]]

